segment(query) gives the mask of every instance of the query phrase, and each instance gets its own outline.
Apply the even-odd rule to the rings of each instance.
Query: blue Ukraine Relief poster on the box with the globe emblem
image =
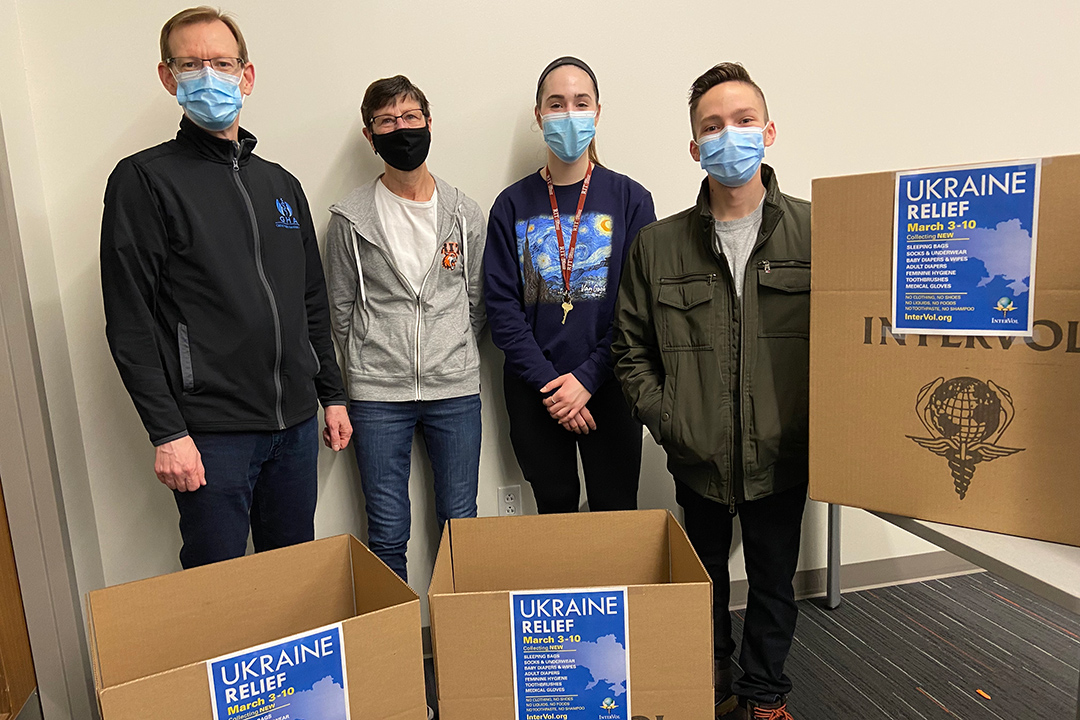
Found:
[[[893,331],[1031,336],[1041,169],[896,174]]]

